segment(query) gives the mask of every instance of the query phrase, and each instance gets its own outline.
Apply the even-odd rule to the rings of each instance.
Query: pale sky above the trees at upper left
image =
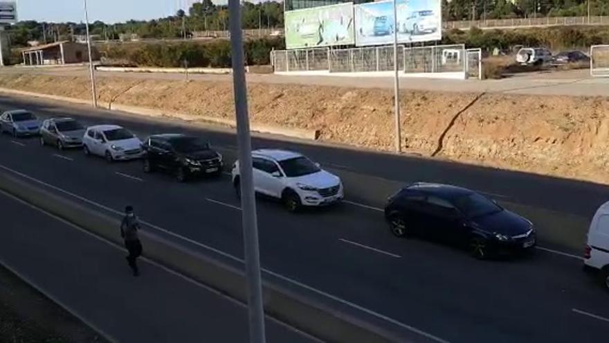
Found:
[[[194,0],[87,0],[87,6],[89,21],[116,23],[167,17],[177,11],[178,4],[188,8],[192,2]],[[226,0],[214,3],[226,3]],[[83,0],[17,0],[17,15],[19,20],[78,23],[84,21]]]

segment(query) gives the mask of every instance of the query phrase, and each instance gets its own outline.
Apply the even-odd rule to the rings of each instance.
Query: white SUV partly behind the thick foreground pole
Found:
[[[282,200],[289,211],[343,200],[340,178],[298,152],[254,150],[252,160],[256,193]],[[239,161],[233,166],[233,185],[239,195]]]

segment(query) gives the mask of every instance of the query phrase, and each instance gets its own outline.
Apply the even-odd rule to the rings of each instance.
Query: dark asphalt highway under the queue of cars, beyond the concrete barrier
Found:
[[[140,118],[87,107],[0,97],[0,109],[71,115],[84,123],[118,123],[144,138],[158,132],[208,137],[231,164],[231,130]],[[347,201],[291,214],[259,201],[264,277],[365,313],[424,342],[592,342],[606,340],[609,297],[581,271],[586,225],[609,199],[597,184],[514,173],[450,161],[380,154],[260,135],[255,148],[305,152],[343,178]],[[37,139],[0,137],[0,168],[100,211],[135,206],[145,229],[185,245],[242,257],[239,201],[227,175],[178,184],[143,173],[138,161],[107,164],[81,151],[58,152]],[[531,218],[535,256],[475,261],[423,240],[394,238],[383,221],[385,199],[413,181],[449,182],[482,191]]]

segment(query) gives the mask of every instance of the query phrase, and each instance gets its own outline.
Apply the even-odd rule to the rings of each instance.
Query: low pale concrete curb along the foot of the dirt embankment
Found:
[[[50,100],[64,101],[66,103],[77,103],[80,105],[91,105],[91,100],[83,100],[79,98],[69,98],[66,96],[54,96],[50,94],[35,93],[32,91],[19,91],[17,89],[0,88],[0,94],[14,94],[18,96],[33,96],[36,98],[46,98]],[[183,121],[203,121],[230,127],[237,127],[237,123],[231,118],[217,118],[212,116],[199,116],[196,114],[184,114],[181,112],[172,112],[165,109],[152,109],[146,107],[138,107],[131,105],[122,105],[117,103],[107,103],[98,100],[98,107],[101,109],[109,109],[111,111],[128,112],[131,114],[139,114],[141,116],[152,117],[170,117],[177,118]],[[251,130],[266,134],[280,134],[286,137],[309,139],[315,141],[319,137],[319,130],[298,129],[292,127],[276,127],[273,125],[251,123]]]

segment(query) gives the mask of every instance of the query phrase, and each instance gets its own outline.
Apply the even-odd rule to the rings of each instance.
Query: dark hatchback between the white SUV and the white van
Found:
[[[395,236],[418,235],[467,247],[475,258],[529,251],[533,224],[466,188],[415,183],[389,198],[385,218]]]

